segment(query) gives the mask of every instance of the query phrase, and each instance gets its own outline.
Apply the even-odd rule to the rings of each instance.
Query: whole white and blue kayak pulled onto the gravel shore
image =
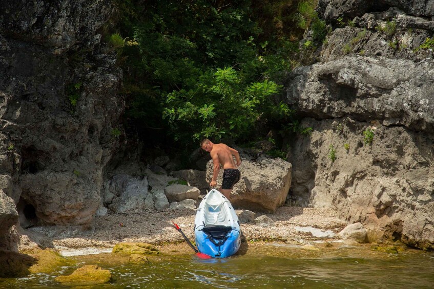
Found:
[[[199,252],[211,257],[229,257],[240,248],[237,214],[229,200],[218,190],[211,190],[200,202],[194,221],[194,234]]]

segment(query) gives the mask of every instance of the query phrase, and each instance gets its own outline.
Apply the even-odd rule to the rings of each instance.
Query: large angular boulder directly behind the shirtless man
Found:
[[[231,204],[236,208],[275,212],[285,202],[291,186],[291,164],[282,159],[272,159],[266,155],[259,157],[242,153],[240,181],[231,193]],[[211,182],[213,161],[206,166],[206,179]],[[221,186],[223,169],[217,179]]]

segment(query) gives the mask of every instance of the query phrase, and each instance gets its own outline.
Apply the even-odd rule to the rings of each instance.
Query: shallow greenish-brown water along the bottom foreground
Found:
[[[70,257],[74,268],[1,279],[0,288],[66,288],[54,280],[84,264],[110,270],[108,284],[77,288],[434,288],[434,252],[387,254],[368,248],[308,251],[282,244],[249,248],[226,259],[193,254],[130,264],[113,254]]]

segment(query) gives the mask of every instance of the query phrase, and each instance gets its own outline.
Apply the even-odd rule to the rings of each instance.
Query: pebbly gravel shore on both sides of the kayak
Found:
[[[241,211],[237,210],[237,214]],[[331,209],[281,207],[275,213],[256,213],[255,217],[266,215],[272,224],[256,225],[255,222],[241,223],[242,242],[282,241],[309,244],[318,240],[338,240],[337,234],[346,223],[336,217]],[[148,242],[157,246],[185,242],[174,228],[174,221],[183,233],[194,240],[195,210],[165,210],[132,212],[128,214],[108,213],[97,216],[94,231],[48,237],[40,241],[48,247],[68,249],[111,248],[118,242]],[[317,233],[312,233],[315,230]],[[328,232],[328,233],[327,233]],[[333,233],[331,233],[333,232]]]

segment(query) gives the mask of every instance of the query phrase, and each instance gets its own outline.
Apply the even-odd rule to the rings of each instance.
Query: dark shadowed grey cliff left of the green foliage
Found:
[[[100,205],[124,109],[115,52],[97,33],[112,10],[108,0],[2,3],[0,184],[28,222],[88,225]]]

